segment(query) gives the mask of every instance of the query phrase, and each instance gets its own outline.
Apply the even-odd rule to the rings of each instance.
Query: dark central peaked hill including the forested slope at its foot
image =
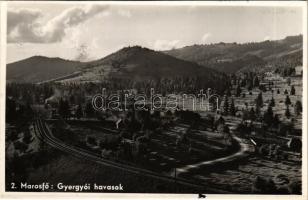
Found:
[[[125,47],[89,62],[81,73],[58,81],[109,82],[113,89],[155,87],[168,92],[208,87],[220,91],[228,84],[221,72],[140,46]]]

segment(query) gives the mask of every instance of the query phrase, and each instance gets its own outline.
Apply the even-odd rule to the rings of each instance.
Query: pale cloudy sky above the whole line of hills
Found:
[[[7,63],[42,55],[89,61],[126,46],[169,50],[303,34],[300,7],[10,3]]]

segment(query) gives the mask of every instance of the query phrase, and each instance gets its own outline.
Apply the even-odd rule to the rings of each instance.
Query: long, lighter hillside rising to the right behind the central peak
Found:
[[[275,65],[276,60],[288,60],[292,65],[300,65],[303,36],[288,36],[282,40],[253,43],[217,43],[192,45],[164,53],[179,59],[196,62],[199,65],[226,73],[259,70]],[[295,67],[295,66],[291,66]]]

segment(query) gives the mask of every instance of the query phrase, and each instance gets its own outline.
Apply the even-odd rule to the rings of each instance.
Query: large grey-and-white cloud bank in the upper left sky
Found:
[[[40,18],[43,13],[40,11],[29,9],[8,11],[8,42],[60,42],[68,28],[82,24],[100,13],[108,14],[108,7],[102,5],[73,7],[64,10],[48,22],[42,23]]]

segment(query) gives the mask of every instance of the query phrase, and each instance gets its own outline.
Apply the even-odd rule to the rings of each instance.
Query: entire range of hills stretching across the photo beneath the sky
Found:
[[[302,35],[259,43],[191,45],[169,51],[128,46],[103,58],[80,62],[32,56],[7,64],[8,82],[100,81],[108,77],[151,79],[175,76],[221,76],[249,70],[300,65]]]

